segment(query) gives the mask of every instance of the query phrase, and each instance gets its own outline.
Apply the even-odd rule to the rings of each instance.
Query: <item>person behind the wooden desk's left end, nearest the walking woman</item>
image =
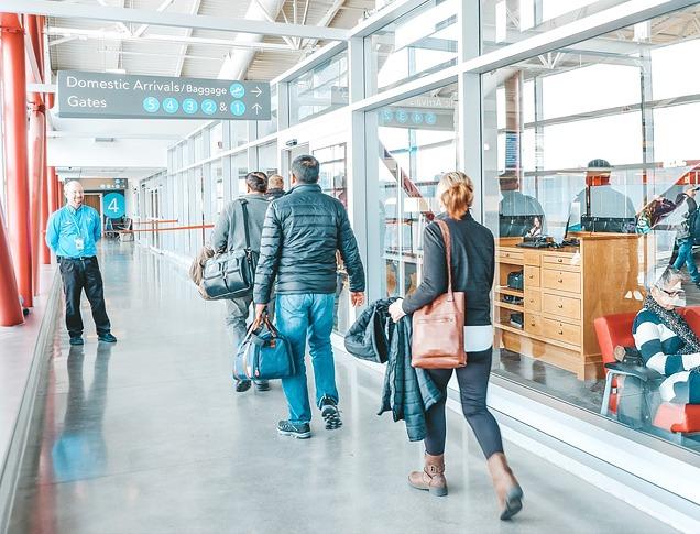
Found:
[[[540,236],[545,232],[545,210],[537,198],[519,190],[517,176],[499,178],[501,203],[499,220],[501,237]]]

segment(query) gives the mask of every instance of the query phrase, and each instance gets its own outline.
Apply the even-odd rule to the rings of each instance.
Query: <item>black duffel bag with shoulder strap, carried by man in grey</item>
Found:
[[[229,250],[209,258],[204,266],[201,287],[210,301],[240,298],[253,294],[258,252],[250,248],[248,231],[248,200],[242,198],[245,248]]]

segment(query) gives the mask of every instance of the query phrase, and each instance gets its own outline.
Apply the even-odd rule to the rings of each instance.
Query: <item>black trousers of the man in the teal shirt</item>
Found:
[[[61,258],[58,262],[63,279],[63,292],[66,296],[66,328],[70,337],[83,335],[83,317],[80,316],[83,290],[90,302],[98,336],[108,334],[111,325],[105,308],[102,275],[97,264],[97,258]]]

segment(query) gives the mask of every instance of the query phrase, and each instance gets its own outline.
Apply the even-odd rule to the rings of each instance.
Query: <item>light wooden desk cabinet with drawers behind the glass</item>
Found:
[[[518,248],[521,238],[501,238],[494,316],[501,347],[589,380],[603,375],[593,319],[642,307],[641,246],[634,235],[577,237],[579,247],[564,249]],[[508,287],[508,274],[519,271],[523,288]]]

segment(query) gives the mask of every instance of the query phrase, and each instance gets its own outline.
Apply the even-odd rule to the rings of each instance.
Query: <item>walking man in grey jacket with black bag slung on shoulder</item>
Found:
[[[245,248],[245,226],[243,222],[243,203],[248,209],[248,231],[250,248],[254,252],[260,251],[260,237],[262,233],[265,212],[267,211],[267,176],[262,172],[249,173],[245,176],[247,195],[230,201],[217,221],[211,233],[211,247],[215,251],[243,250]],[[231,298],[226,303],[226,325],[233,349],[236,350],[245,337],[248,313],[253,302],[253,295],[240,298]],[[272,310],[271,310],[272,312]],[[258,391],[267,391],[270,384],[266,380],[255,381]],[[243,392],[250,389],[250,380],[236,381],[236,391]]]

